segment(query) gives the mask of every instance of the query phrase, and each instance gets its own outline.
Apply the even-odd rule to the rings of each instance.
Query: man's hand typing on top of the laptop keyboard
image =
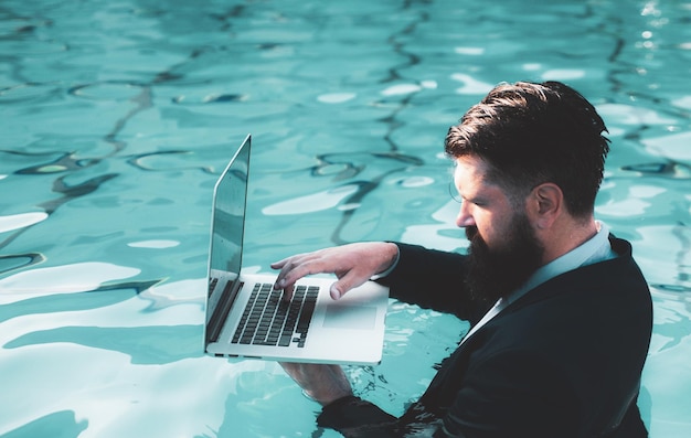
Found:
[[[274,289],[284,290],[285,298],[293,297],[295,282],[312,274],[336,274],[338,281],[331,285],[331,298],[338,300],[372,276],[389,269],[396,260],[398,247],[384,242],[365,242],[313,253],[298,254],[272,264],[280,269]]]

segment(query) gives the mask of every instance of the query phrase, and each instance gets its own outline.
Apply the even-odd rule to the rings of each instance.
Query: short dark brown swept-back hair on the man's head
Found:
[[[595,108],[559,82],[500,84],[449,128],[446,153],[476,156],[487,182],[523,200],[551,182],[575,217],[593,213],[609,140]]]

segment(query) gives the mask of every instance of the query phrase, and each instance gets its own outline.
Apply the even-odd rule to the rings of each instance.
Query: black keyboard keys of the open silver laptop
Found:
[[[305,346],[319,288],[297,286],[290,301],[270,284],[252,290],[232,343],[253,345]]]

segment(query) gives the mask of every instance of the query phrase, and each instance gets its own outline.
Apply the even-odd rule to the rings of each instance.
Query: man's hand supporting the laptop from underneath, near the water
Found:
[[[350,382],[339,365],[280,363],[307,396],[322,406],[352,395]]]

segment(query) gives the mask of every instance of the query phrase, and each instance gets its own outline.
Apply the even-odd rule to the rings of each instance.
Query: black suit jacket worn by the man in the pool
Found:
[[[426,393],[394,418],[357,397],[318,418],[349,437],[645,437],[636,396],[652,306],[630,245],[557,276],[480,328]],[[476,323],[488,306],[464,288],[465,256],[398,245],[392,296]]]

